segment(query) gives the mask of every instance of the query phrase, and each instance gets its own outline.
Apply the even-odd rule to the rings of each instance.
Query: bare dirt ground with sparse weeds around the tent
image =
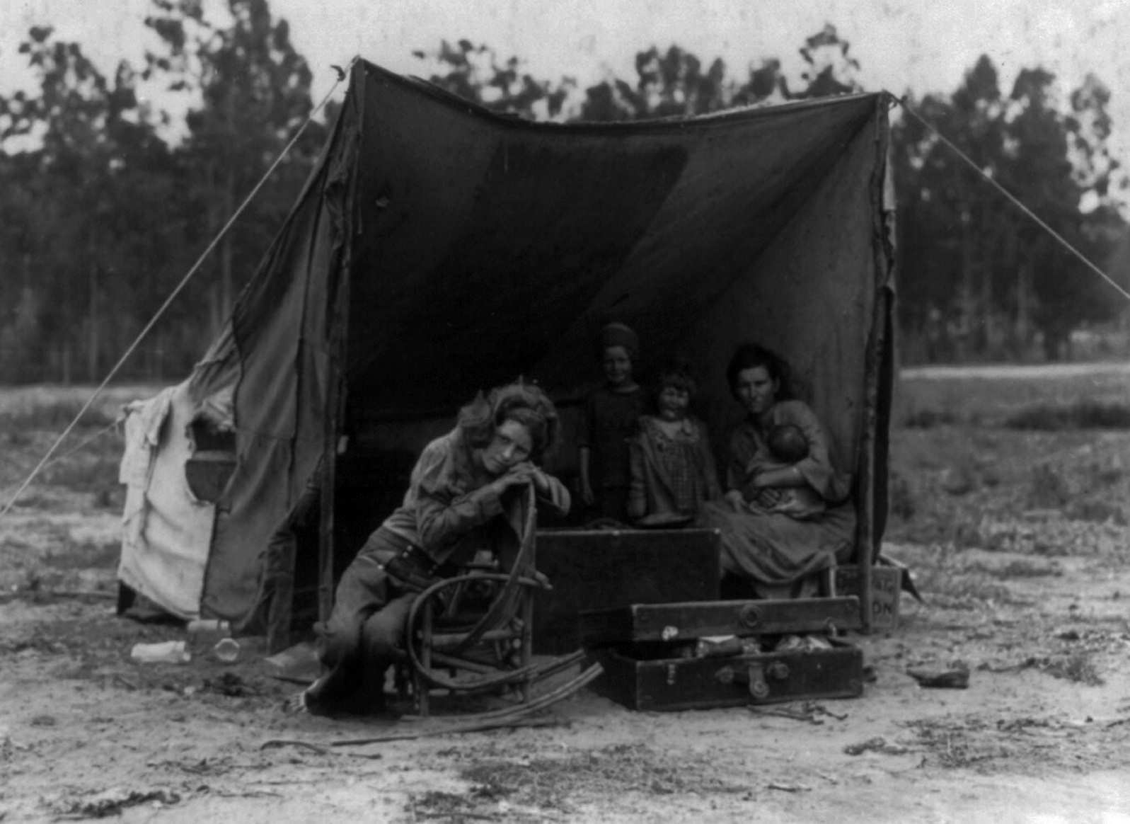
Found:
[[[51,437],[8,423],[14,488]],[[649,713],[586,691],[550,726],[329,751],[261,745],[428,728],[285,714],[296,687],[255,654],[130,659],[185,632],[114,615],[106,437],[0,519],[5,822],[1130,821],[1130,432],[896,428],[885,552],[925,602],[852,637],[860,699]],[[954,661],[968,688],[907,675]]]

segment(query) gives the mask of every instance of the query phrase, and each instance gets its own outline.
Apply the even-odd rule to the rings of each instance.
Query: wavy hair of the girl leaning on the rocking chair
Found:
[[[472,449],[490,443],[495,430],[506,420],[522,424],[530,433],[530,460],[540,462],[557,443],[559,422],[557,408],[540,387],[532,383],[507,383],[479,392],[475,400],[459,410],[459,428]]]

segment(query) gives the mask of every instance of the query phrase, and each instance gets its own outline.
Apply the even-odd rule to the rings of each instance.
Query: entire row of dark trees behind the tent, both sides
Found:
[[[33,92],[0,96],[0,381],[98,381],[226,224],[313,110],[312,72],[268,0],[151,0],[144,66],[106,76],[80,43],[32,27],[20,52]],[[733,72],[670,45],[636,54],[635,77],[582,88],[538,78],[518,57],[466,40],[415,52],[432,83],[531,120],[611,121],[864,90],[835,27],[800,45],[791,77],[774,57]],[[180,119],[141,96],[188,101]],[[1006,94],[982,57],[949,95],[905,103],[980,170],[1101,266],[1127,226],[1111,156],[1110,90],[1096,76],[1066,95],[1040,67]],[[122,378],[185,374],[223,327],[325,140],[311,123]],[[909,361],[1063,356],[1070,332],[1121,304],[1074,255],[980,180],[937,133],[895,114],[898,320]],[[1121,272],[1118,274],[1121,277]]]

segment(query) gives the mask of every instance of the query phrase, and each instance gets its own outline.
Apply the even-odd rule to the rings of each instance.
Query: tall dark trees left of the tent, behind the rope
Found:
[[[312,73],[267,0],[208,20],[153,0],[145,66],[107,77],[35,26],[34,93],[0,97],[0,381],[99,381],[306,121]],[[139,94],[192,101],[183,122]],[[185,374],[229,314],[327,137],[311,124],[131,357],[123,378]]]

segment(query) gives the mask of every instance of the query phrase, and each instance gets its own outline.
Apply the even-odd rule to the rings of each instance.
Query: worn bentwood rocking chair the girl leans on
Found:
[[[580,654],[533,661],[533,596],[546,584],[536,580],[533,489],[527,493],[521,547],[508,573],[471,567],[425,589],[408,615],[405,642],[408,679],[420,715],[429,712],[429,692],[477,694],[501,687],[516,691],[523,705],[531,702],[534,682],[580,660]],[[485,609],[461,614],[472,590],[487,593]]]

